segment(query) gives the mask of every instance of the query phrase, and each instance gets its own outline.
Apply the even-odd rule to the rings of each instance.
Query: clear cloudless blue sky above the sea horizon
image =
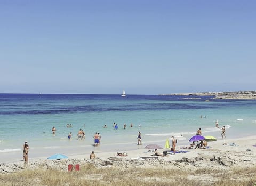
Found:
[[[256,1],[0,0],[0,93],[256,90]]]

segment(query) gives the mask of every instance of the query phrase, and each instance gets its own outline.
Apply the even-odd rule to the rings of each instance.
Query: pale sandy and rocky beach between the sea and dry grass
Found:
[[[168,153],[168,156],[151,156],[152,152],[148,152],[151,149],[145,149],[145,145],[137,147],[137,149],[129,149],[125,151],[127,157],[116,156],[117,150],[100,151],[95,150],[95,160],[90,160],[90,152],[73,152],[70,154],[68,159],[62,160],[47,160],[46,157],[31,158],[29,159],[29,168],[53,168],[62,171],[67,171],[68,164],[92,164],[97,168],[108,167],[164,167],[164,168],[179,168],[183,170],[196,169],[196,168],[207,168],[212,169],[225,169],[229,170],[233,167],[239,166],[255,166],[256,165],[256,147],[255,145],[256,136],[248,136],[239,139],[221,139],[214,142],[210,142],[209,149],[181,149],[181,146],[177,150],[186,151],[187,153],[176,153],[172,155]],[[223,143],[232,144],[236,143],[236,146],[222,145]],[[186,145],[182,145],[186,147]],[[249,150],[248,150],[249,149]],[[163,153],[166,149],[159,149],[159,152]],[[170,150],[170,149],[169,149]],[[119,150],[119,152],[122,152]],[[31,152],[30,152],[31,153]],[[155,158],[153,158],[155,157]],[[106,161],[110,162],[109,165],[105,165]],[[137,163],[135,165],[134,161]],[[138,162],[144,162],[140,164]],[[15,161],[9,163],[0,164],[1,173],[13,173],[26,169],[23,166],[23,161]]]

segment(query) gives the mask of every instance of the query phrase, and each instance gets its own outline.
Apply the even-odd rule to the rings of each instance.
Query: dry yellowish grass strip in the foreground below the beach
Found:
[[[97,169],[82,166],[80,171],[25,169],[0,175],[0,185],[213,185],[256,186],[256,167],[235,168],[230,171],[197,169],[195,172],[174,169]]]

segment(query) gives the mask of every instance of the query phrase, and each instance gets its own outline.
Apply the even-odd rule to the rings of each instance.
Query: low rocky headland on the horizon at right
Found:
[[[235,99],[235,100],[256,99],[256,91],[198,92],[198,93],[174,93],[174,94],[158,94],[158,95],[214,96],[214,99]]]

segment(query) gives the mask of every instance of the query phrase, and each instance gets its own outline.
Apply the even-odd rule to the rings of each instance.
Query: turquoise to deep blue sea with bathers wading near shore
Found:
[[[0,94],[0,163],[22,159],[25,141],[30,157],[38,158],[164,146],[171,136],[177,138],[177,145],[186,145],[198,128],[203,136],[221,140],[221,127],[226,126],[227,139],[242,138],[255,135],[255,113],[256,100],[214,96]],[[220,128],[215,127],[217,119]],[[85,132],[84,140],[77,138],[79,129]],[[139,131],[142,145],[137,144]],[[68,140],[70,132],[73,138]],[[101,136],[99,147],[93,146],[96,132]]]

